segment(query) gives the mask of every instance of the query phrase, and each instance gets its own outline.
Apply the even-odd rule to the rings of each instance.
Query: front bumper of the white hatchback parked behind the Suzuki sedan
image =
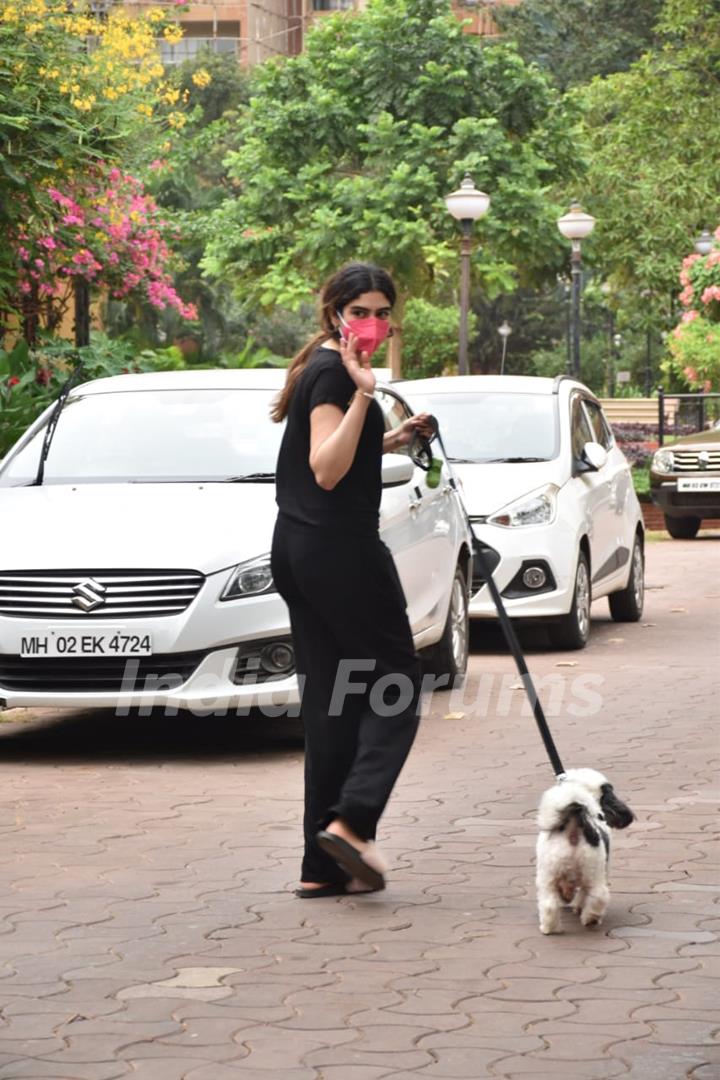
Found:
[[[517,529],[474,524],[473,529],[480,543],[500,556],[493,578],[512,618],[553,619],[568,613],[578,553],[576,538],[568,526],[555,521],[548,526]],[[555,588],[528,590],[524,596],[506,595],[515,592],[512,586],[521,569],[535,564],[549,569]],[[471,596],[471,619],[494,619],[497,615],[488,586],[481,585]]]

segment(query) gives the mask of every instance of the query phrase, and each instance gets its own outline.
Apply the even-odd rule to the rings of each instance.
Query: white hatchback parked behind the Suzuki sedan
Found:
[[[394,383],[433,413],[508,613],[553,644],[587,643],[590,603],[642,613],[643,538],[630,469],[599,402],[567,376],[444,377]],[[471,618],[495,615],[475,575]]]

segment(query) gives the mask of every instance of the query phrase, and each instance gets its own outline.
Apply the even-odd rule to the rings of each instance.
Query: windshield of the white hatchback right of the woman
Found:
[[[454,461],[548,461],[557,456],[554,394],[441,393],[413,395],[416,413],[437,417],[443,443]]]

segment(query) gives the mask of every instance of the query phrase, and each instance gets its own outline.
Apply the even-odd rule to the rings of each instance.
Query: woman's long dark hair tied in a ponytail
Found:
[[[372,262],[348,262],[341,267],[323,285],[321,289],[320,302],[320,324],[322,329],[315,334],[308,345],[295,356],[287,369],[285,386],[282,393],[273,403],[270,416],[280,423],[287,416],[290,407],[290,400],[296,383],[300,378],[312,353],[328,337],[337,336],[337,329],[332,318],[338,311],[342,311],[349,303],[362,296],[363,293],[382,293],[388,298],[392,308],[395,303],[395,285],[386,270],[375,266]]]

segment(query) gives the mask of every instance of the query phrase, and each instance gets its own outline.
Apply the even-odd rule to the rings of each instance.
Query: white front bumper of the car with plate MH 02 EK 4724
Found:
[[[246,715],[250,708],[269,715],[299,713],[295,672],[267,678],[252,660],[268,643],[289,640],[284,602],[276,593],[221,602],[227,577],[227,571],[208,577],[179,615],[124,620],[124,632],[151,635],[150,657],[21,659],[23,637],[51,625],[76,633],[100,631],[104,621],[0,616],[0,708],[112,708],[119,715],[153,708],[198,715]],[[106,619],[105,625],[121,622]]]

